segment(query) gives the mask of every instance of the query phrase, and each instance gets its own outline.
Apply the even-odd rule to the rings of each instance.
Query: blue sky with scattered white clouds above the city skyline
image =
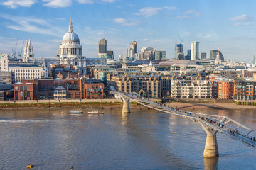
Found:
[[[251,63],[255,6],[250,0],[0,0],[0,52],[18,54],[31,38],[35,57],[53,57],[71,18],[86,57],[97,57],[102,38],[115,59],[134,40],[138,50],[166,50],[169,59],[175,43],[182,41],[187,55],[198,41],[207,57],[219,47],[225,60]]]

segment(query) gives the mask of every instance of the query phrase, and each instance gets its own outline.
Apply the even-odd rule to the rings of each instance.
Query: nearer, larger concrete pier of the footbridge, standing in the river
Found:
[[[202,126],[203,130],[206,131],[207,137],[206,137],[206,145],[205,149],[203,151],[203,157],[219,157],[218,154],[218,144],[217,144],[217,137],[216,133],[217,130],[210,128],[205,123],[202,123],[200,120],[198,121],[200,125]]]

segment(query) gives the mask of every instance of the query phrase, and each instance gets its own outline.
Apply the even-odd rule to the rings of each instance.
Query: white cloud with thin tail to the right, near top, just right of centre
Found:
[[[158,14],[159,11],[162,11],[163,9],[175,10],[176,7],[171,7],[171,6],[164,6],[164,7],[159,7],[159,8],[145,7],[145,8],[141,8],[139,10],[139,13],[135,13],[135,14],[138,15],[138,16],[150,17],[150,16],[154,16],[154,15]]]

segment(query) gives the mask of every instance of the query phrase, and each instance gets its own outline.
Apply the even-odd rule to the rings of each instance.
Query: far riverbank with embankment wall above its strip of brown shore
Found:
[[[131,109],[145,108],[137,105],[135,102],[129,102]],[[168,103],[172,107],[178,107],[183,110],[195,111],[200,109],[224,109],[224,110],[238,110],[238,109],[255,109],[256,106],[236,105],[235,103],[183,103],[175,102]],[[122,100],[119,99],[84,99],[84,100],[39,100],[39,101],[0,101],[0,109],[11,108],[122,108]],[[147,109],[147,108],[145,108]]]

